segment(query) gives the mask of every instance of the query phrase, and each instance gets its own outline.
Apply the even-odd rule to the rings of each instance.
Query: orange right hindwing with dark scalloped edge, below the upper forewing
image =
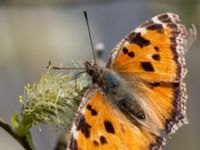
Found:
[[[185,84],[181,83],[138,83],[135,97],[145,111],[146,124],[167,134],[187,123]]]

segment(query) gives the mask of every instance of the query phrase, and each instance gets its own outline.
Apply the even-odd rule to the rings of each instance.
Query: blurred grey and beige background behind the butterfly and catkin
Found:
[[[20,111],[18,96],[26,83],[38,81],[48,61],[70,66],[92,58],[88,31],[82,14],[88,10],[94,44],[110,50],[137,25],[163,12],[175,12],[188,27],[200,28],[199,0],[0,0],[0,117],[10,122]],[[190,124],[167,142],[165,150],[200,148],[200,42],[186,54]],[[52,150],[59,132],[41,125],[32,130],[37,150]],[[23,150],[0,128],[0,149]]]

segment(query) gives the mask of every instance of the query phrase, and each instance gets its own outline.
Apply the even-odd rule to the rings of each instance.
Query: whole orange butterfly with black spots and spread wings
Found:
[[[187,124],[189,30],[163,13],[128,34],[106,67],[86,61],[93,84],[85,93],[67,150],[157,150]]]

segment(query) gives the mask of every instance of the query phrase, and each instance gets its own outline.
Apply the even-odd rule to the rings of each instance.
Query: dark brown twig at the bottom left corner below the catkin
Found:
[[[6,132],[8,132],[25,150],[32,150],[25,136],[18,136],[12,127],[0,119],[0,127],[2,127]]]

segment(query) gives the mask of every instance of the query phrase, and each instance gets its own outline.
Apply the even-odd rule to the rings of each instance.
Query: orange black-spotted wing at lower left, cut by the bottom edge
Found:
[[[164,139],[130,122],[98,88],[86,93],[72,127],[68,150],[159,149]]]

